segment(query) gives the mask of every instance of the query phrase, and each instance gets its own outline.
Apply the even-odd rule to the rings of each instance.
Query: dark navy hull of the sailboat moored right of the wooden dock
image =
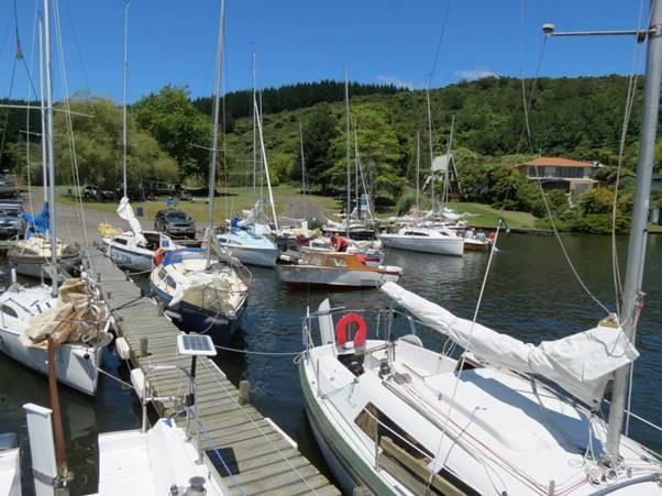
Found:
[[[179,329],[185,332],[209,334],[217,344],[228,343],[230,341],[230,338],[239,327],[239,321],[246,307],[244,304],[234,319],[219,316],[216,311],[191,305],[184,300],[170,307],[169,302],[172,296],[162,291],[152,283],[151,286],[156,298],[165,305],[165,315],[169,317]]]

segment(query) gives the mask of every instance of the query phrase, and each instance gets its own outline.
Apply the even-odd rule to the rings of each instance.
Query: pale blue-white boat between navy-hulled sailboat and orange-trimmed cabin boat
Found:
[[[275,267],[280,251],[265,234],[257,234],[252,229],[231,227],[228,232],[217,234],[219,244],[242,264],[260,267]]]

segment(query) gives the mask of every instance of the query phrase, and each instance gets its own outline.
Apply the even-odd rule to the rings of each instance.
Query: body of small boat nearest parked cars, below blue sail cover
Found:
[[[32,234],[30,238],[19,240],[8,251],[9,265],[16,274],[49,279],[52,277],[53,239],[48,234]],[[80,264],[80,252],[76,244],[66,244],[57,239],[55,242],[57,265],[74,273]]]

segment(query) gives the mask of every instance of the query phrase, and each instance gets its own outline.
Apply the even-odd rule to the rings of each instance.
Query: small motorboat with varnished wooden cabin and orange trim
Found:
[[[278,265],[278,275],[294,287],[375,288],[397,282],[402,268],[371,265],[362,255],[346,252],[310,252],[295,263]]]

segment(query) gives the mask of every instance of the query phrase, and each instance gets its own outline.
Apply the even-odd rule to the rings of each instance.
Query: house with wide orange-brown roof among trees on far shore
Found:
[[[593,178],[599,164],[559,157],[539,157],[516,166],[528,179],[542,183],[545,190],[562,189],[581,195],[593,189],[598,181]]]

